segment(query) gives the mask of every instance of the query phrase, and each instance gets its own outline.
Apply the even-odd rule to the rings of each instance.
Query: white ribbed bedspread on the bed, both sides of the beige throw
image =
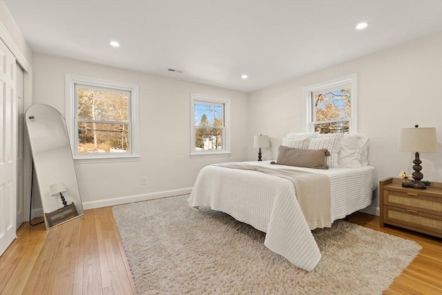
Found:
[[[249,163],[328,175],[332,220],[344,218],[372,202],[374,169],[371,166],[320,170],[269,162]],[[206,166],[198,174],[189,204],[223,211],[264,231],[267,233],[265,245],[297,267],[310,272],[320,260],[318,245],[302,215],[290,180],[257,171]]]

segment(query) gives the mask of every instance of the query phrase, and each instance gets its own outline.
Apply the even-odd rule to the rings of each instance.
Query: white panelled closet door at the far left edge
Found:
[[[0,255],[15,238],[17,100],[15,57],[0,40]]]

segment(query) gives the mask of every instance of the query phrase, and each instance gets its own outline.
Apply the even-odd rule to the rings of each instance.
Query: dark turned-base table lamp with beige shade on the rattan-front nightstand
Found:
[[[414,125],[415,128],[403,128],[399,131],[398,146],[399,151],[414,152],[414,181],[410,187],[414,189],[426,189],[426,186],[421,179],[422,161],[419,159],[419,153],[434,153],[437,151],[437,137],[436,128],[426,127],[418,128],[419,125]]]

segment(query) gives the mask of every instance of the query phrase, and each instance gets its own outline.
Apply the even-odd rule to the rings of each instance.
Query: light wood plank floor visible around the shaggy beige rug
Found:
[[[442,294],[442,240],[354,213],[347,221],[415,240],[423,249],[384,294]],[[0,257],[0,294],[135,294],[111,207],[46,230],[23,224]],[[171,269],[171,271],[173,271]]]

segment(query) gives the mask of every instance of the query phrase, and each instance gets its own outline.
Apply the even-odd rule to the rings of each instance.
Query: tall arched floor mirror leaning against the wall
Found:
[[[25,118],[44,222],[50,229],[84,214],[66,122],[46,104],[30,106]]]

